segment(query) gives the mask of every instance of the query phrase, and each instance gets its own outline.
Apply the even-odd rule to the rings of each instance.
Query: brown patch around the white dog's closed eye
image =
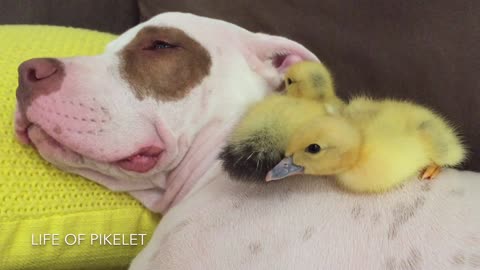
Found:
[[[155,42],[172,48],[154,49]],[[173,101],[190,90],[210,72],[210,54],[185,32],[171,27],[145,27],[120,52],[121,75],[140,100]]]

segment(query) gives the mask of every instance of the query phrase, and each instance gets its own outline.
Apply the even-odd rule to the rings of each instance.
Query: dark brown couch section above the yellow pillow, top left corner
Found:
[[[0,0],[0,24],[53,24],[121,33],[138,22],[136,0]]]

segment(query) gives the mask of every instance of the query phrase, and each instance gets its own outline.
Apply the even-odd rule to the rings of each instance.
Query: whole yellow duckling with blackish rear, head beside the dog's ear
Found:
[[[295,64],[287,72],[285,87],[286,95],[272,95],[249,109],[220,153],[223,168],[232,178],[264,181],[285,157],[295,130],[343,105],[321,63]]]

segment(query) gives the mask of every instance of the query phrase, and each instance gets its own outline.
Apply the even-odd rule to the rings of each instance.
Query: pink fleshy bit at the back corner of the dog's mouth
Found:
[[[127,171],[139,173],[148,172],[157,164],[161,152],[161,149],[150,148],[146,151],[141,151],[138,154],[132,155],[129,158],[122,159],[118,161],[117,164],[120,168]]]

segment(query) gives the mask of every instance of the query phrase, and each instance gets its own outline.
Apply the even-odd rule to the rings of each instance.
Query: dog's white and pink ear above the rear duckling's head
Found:
[[[246,57],[250,67],[274,89],[282,87],[283,75],[291,65],[304,60],[319,61],[295,41],[262,33],[252,35],[247,43]]]

